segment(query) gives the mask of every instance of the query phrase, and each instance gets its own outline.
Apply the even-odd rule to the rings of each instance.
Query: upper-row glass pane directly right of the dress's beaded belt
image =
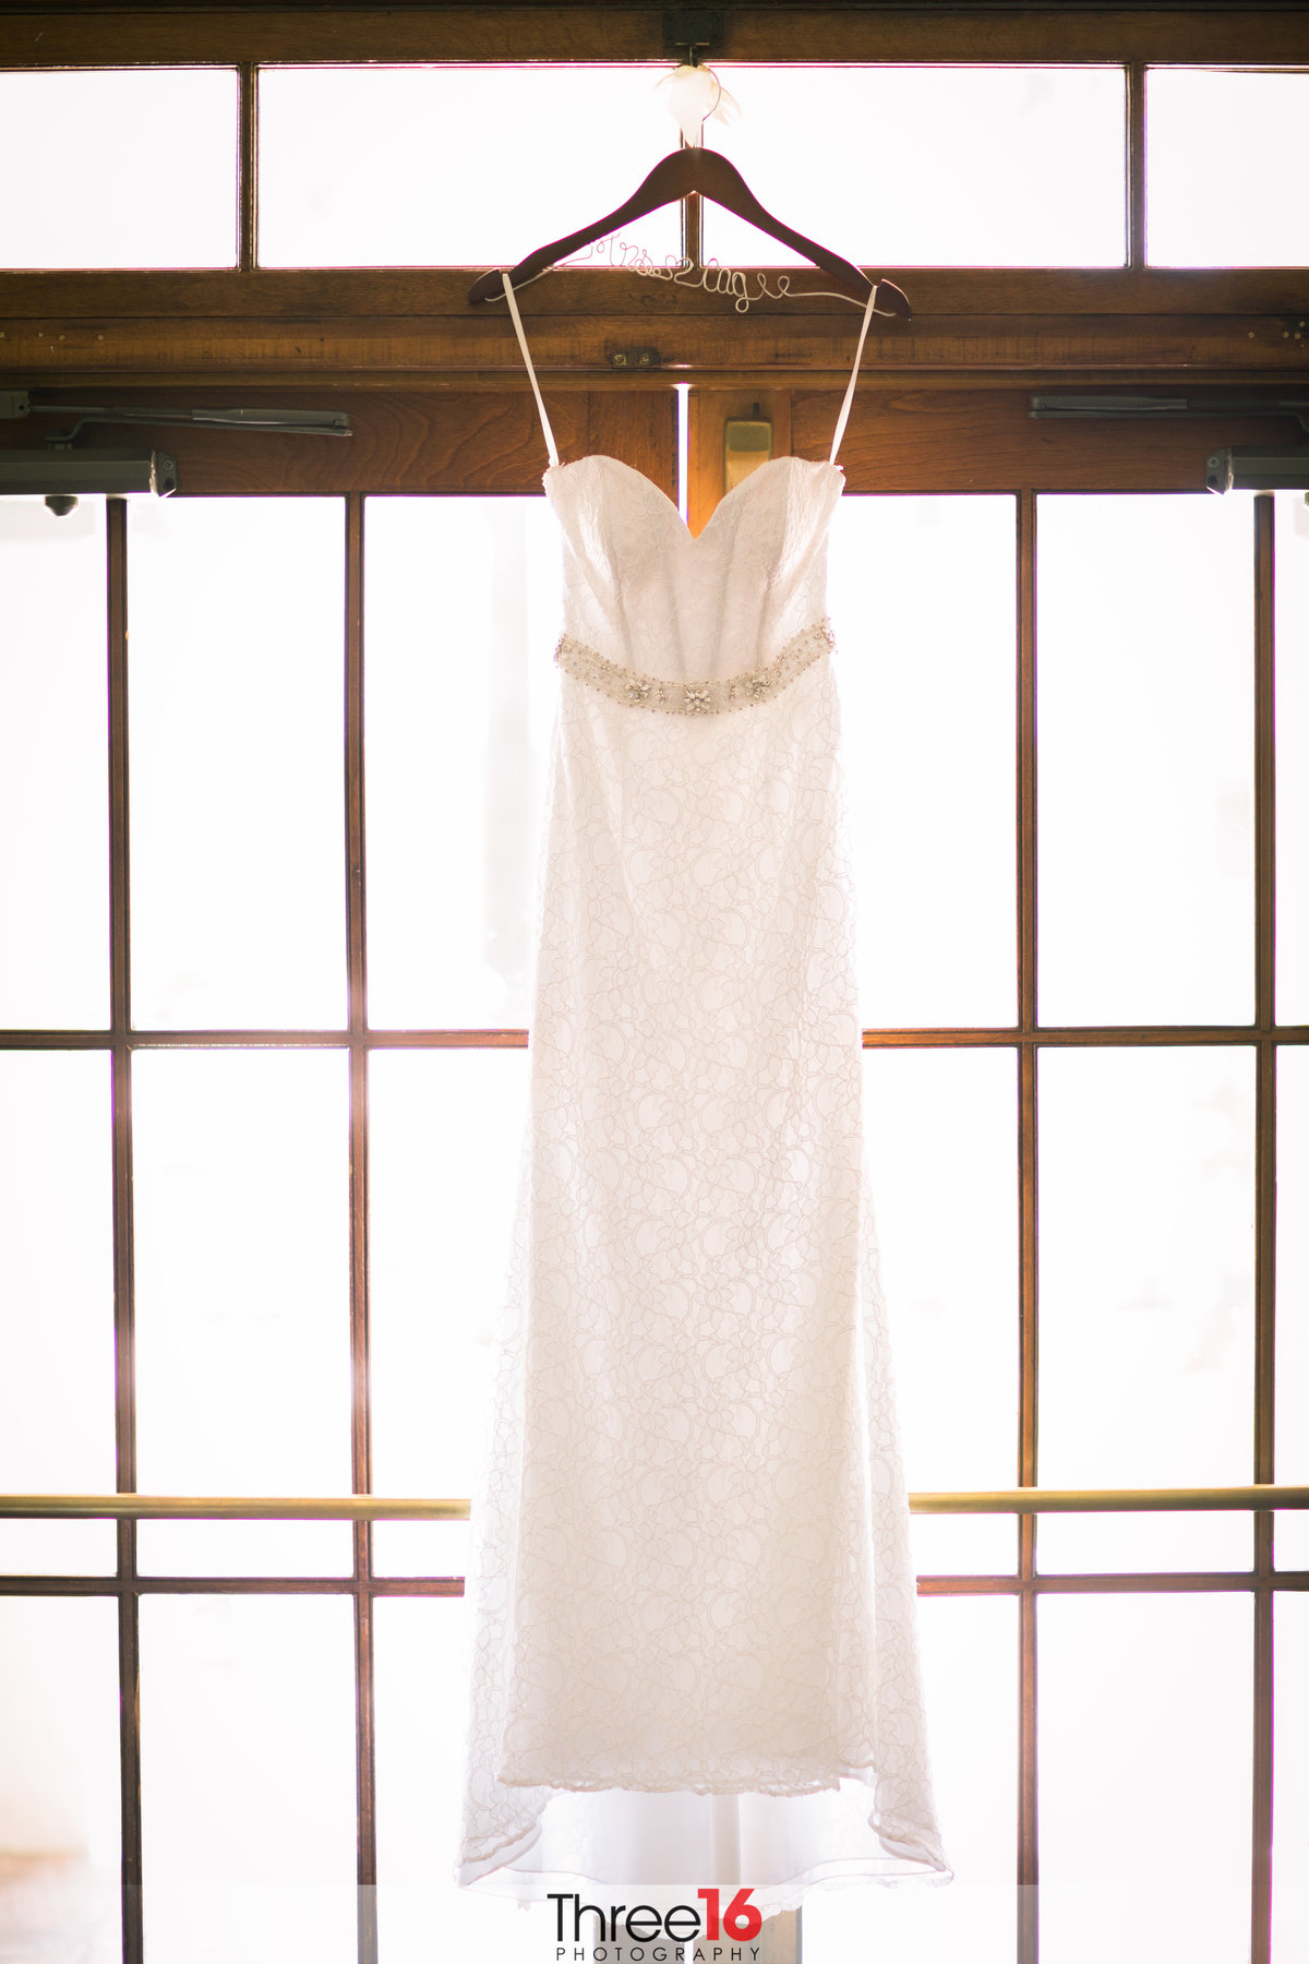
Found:
[[[1015,505],[846,497],[828,605],[879,1027],[1015,1021]]]

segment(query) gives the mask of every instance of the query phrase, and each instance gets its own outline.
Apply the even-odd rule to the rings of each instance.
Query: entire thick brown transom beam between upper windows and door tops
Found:
[[[243,238],[253,230],[243,204]],[[245,238],[243,251],[251,246]],[[500,387],[522,355],[500,308],[471,308],[473,269],[0,273],[0,379],[16,387],[265,383]],[[1309,267],[1254,271],[895,267],[916,308],[875,332],[869,377],[1083,375],[1158,383],[1309,377]],[[744,271],[758,291],[759,269]],[[775,273],[773,273],[775,285]],[[551,273],[524,295],[551,387],[844,387],[858,312],[752,300],[622,271]],[[640,344],[657,361],[616,371]]]

